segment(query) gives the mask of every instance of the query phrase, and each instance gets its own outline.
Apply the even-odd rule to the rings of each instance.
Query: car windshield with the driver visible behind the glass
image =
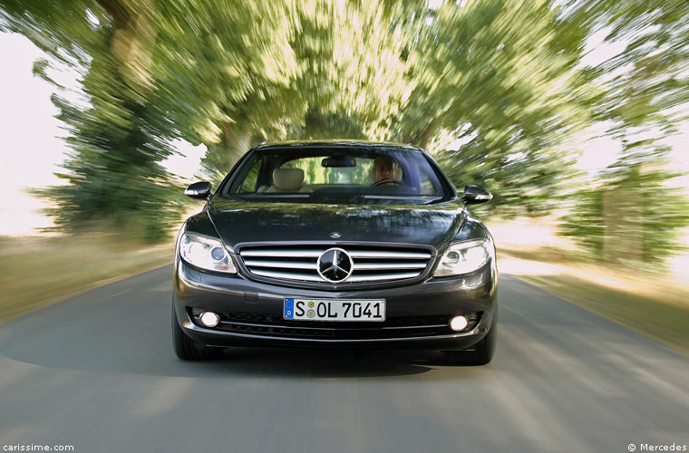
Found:
[[[256,149],[223,197],[314,203],[431,203],[449,196],[421,152],[407,149]]]

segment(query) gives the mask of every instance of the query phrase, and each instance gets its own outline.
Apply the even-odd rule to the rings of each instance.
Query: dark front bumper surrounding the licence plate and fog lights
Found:
[[[212,346],[288,345],[353,347],[418,347],[467,349],[488,332],[496,306],[497,273],[488,263],[458,278],[430,279],[419,284],[360,290],[297,290],[247,279],[213,275],[177,260],[174,308],[177,321],[194,341]],[[332,323],[284,320],[283,300],[298,295],[314,299],[385,299],[384,323]],[[198,313],[222,313],[215,328],[202,326]],[[447,322],[453,315],[476,313],[467,331],[456,333]]]

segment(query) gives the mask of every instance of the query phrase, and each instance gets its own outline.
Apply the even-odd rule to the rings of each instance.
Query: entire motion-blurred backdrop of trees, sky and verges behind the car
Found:
[[[169,263],[252,145],[389,140],[493,192],[503,271],[689,351],[685,0],[0,5],[0,318]]]

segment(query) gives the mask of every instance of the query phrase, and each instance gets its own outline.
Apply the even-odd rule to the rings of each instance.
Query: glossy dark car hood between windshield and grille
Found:
[[[442,250],[465,220],[459,202],[326,205],[213,198],[209,217],[226,246],[245,242],[390,242]],[[337,239],[330,234],[340,233]]]

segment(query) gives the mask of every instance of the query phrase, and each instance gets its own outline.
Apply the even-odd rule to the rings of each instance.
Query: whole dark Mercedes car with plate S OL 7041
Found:
[[[491,360],[495,247],[422,149],[350,141],[251,149],[180,230],[181,359],[228,346],[415,347]],[[460,352],[461,353],[456,353]]]

